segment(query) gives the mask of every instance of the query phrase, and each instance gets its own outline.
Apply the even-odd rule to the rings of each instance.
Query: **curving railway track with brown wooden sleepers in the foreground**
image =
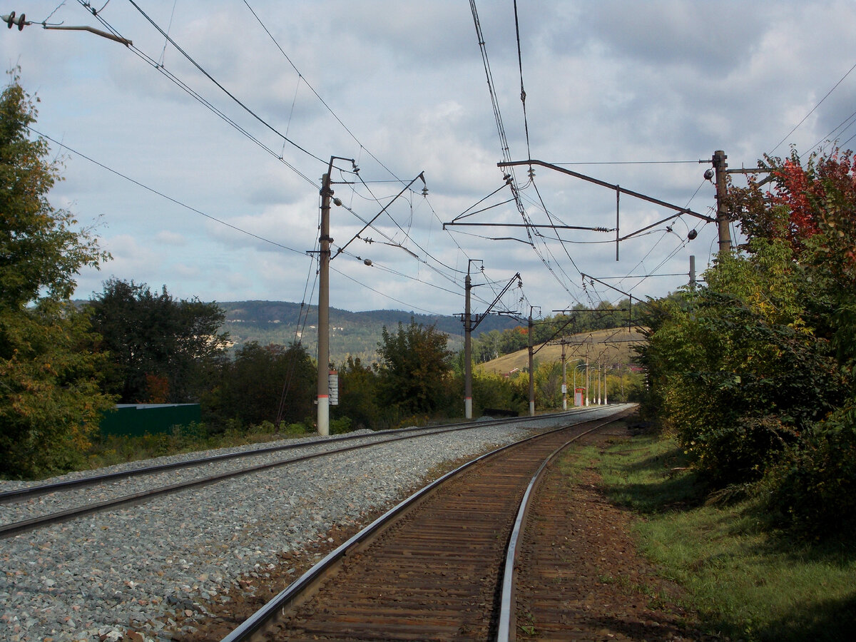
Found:
[[[332,551],[223,642],[509,639],[515,541],[535,476],[559,449],[629,412],[532,437],[448,473]]]

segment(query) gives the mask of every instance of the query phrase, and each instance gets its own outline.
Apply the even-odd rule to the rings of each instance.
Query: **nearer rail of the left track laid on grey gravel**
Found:
[[[582,414],[584,413],[578,411],[574,414]],[[562,414],[562,413],[560,413]],[[570,414],[570,413],[566,413]],[[556,415],[546,415],[546,417],[555,417]],[[537,419],[537,418],[536,418]],[[98,513],[104,510],[108,510],[110,508],[118,508],[121,506],[131,506],[134,504],[146,502],[150,499],[153,499],[158,496],[168,495],[169,493],[178,492],[180,490],[187,490],[190,488],[199,488],[201,486],[206,486],[210,484],[217,484],[218,482],[224,481],[226,479],[231,479],[235,477],[239,477],[241,475],[246,475],[250,473],[259,473],[261,471],[269,470],[271,468],[288,466],[289,464],[300,463],[302,461],[309,461],[312,459],[318,459],[320,457],[330,456],[330,455],[338,455],[342,453],[347,453],[352,450],[371,448],[372,446],[382,445],[384,443],[394,443],[404,439],[413,439],[416,437],[425,437],[430,435],[443,434],[444,432],[454,432],[454,431],[462,431],[469,430],[473,428],[481,428],[489,425],[503,424],[503,423],[520,423],[523,421],[531,421],[532,417],[521,417],[521,418],[510,418],[510,419],[499,419],[496,421],[483,421],[483,422],[471,422],[467,424],[455,424],[450,426],[443,426],[442,428],[433,428],[433,429],[425,429],[419,428],[415,430],[408,431],[407,435],[401,435],[401,431],[384,431],[385,435],[394,434],[395,436],[387,438],[387,439],[378,439],[372,441],[370,443],[360,443],[355,446],[348,446],[346,448],[340,448],[335,450],[327,450],[321,453],[312,453],[310,455],[301,455],[299,457],[293,457],[291,459],[281,460],[281,461],[273,461],[266,464],[259,464],[257,466],[240,468],[235,471],[229,471],[227,473],[217,473],[215,475],[210,475],[208,477],[203,477],[199,479],[192,479],[184,482],[178,482],[176,484],[169,484],[168,486],[161,486],[154,489],[149,490],[140,490],[140,492],[132,493],[130,495],[125,495],[121,497],[114,497],[113,499],[104,500],[102,502],[92,502],[88,503],[84,506],[80,506],[77,508],[69,508],[68,510],[57,511],[56,513],[45,514],[39,517],[33,517],[29,520],[21,520],[16,521],[10,524],[5,524],[0,526],[0,539],[6,539],[15,537],[15,535],[20,535],[23,532],[34,531],[38,528],[42,528],[43,526],[51,526],[53,524],[59,524],[64,521],[73,520],[78,517],[84,517],[87,514]],[[357,437],[371,437],[369,435],[359,435],[353,436],[353,438]],[[326,440],[322,442],[312,442],[310,445],[317,445],[318,443],[328,443]],[[274,449],[271,449],[274,450]],[[156,467],[157,468],[157,467]],[[159,471],[158,471],[159,472]]]

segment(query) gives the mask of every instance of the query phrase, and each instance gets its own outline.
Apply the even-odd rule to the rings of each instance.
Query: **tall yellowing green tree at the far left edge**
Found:
[[[0,471],[19,478],[74,467],[112,405],[70,302],[80,268],[109,256],[48,201],[60,167],[29,138],[36,116],[13,74],[0,95]]]

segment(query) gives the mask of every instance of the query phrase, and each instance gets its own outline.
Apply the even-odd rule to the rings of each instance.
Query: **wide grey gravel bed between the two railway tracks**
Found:
[[[128,629],[145,639],[172,639],[176,613],[185,627],[205,619],[211,598],[240,591],[241,580],[270,573],[286,563],[282,554],[309,550],[332,527],[360,524],[401,501],[444,462],[563,419],[382,444],[2,540],[0,639],[119,640],[128,639]],[[0,490],[9,490],[7,484]]]

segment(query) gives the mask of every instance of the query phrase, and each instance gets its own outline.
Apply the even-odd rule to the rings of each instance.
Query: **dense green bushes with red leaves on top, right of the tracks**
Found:
[[[649,308],[645,409],[709,484],[766,474],[770,510],[817,532],[856,516],[856,164],[850,152],[760,164],[770,193],[729,192],[743,252]]]

